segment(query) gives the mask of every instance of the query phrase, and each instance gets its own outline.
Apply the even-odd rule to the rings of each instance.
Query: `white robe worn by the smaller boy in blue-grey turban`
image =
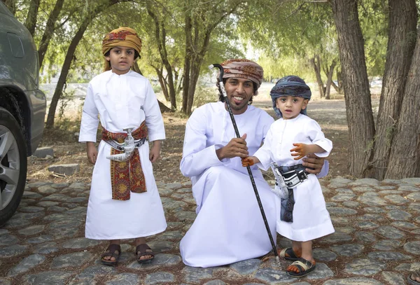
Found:
[[[328,156],[332,149],[332,142],[324,137],[315,120],[302,114],[290,120],[280,118],[269,128],[264,145],[254,154],[260,160],[258,166],[266,170],[272,161],[279,166],[301,164],[302,159],[294,160],[290,153],[290,149],[295,148],[294,143],[321,146],[325,152],[315,153],[320,158]],[[314,174],[309,174],[306,181],[293,188],[293,195],[293,223],[281,221],[278,216],[277,232],[280,235],[306,242],[334,232],[321,185]]]

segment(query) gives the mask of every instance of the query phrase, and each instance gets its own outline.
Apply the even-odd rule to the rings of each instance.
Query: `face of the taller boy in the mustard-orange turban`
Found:
[[[116,46],[109,50],[109,56],[105,57],[111,64],[113,73],[121,75],[130,71],[134,62],[134,48]]]

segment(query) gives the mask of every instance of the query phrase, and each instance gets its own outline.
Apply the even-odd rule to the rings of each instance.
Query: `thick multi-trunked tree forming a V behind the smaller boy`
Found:
[[[416,1],[388,1],[388,48],[376,133],[358,1],[334,0],[331,5],[337,27],[351,138],[350,173],[377,179],[418,176],[420,43],[419,31],[416,30]]]

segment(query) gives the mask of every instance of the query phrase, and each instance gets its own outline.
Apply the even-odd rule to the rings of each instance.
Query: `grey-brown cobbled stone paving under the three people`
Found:
[[[153,262],[137,263],[129,240],[116,267],[99,262],[106,242],[83,237],[88,184],[29,183],[0,228],[0,284],[407,284],[409,270],[420,269],[420,178],[320,182],[336,232],[316,240],[316,271],[301,279],[274,258],[183,265],[179,241],[195,218],[190,183],[158,183],[168,228],[147,239],[158,253]],[[278,237],[278,244],[290,242]]]

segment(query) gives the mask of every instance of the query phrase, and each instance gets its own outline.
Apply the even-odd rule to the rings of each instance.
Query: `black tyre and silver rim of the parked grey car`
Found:
[[[18,209],[27,175],[27,151],[20,125],[0,108],[0,225]]]

